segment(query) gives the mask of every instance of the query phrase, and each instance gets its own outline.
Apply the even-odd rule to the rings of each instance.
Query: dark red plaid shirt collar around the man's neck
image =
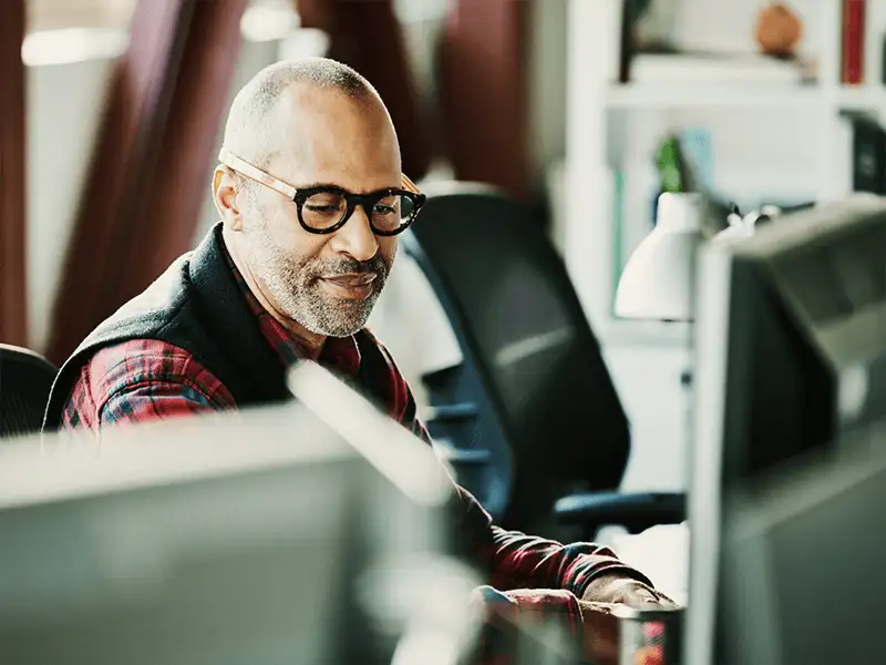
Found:
[[[237,269],[224,242],[222,243],[222,248],[228,267],[230,267],[230,272],[234,275],[234,280],[237,283],[237,286],[246,299],[249,311],[256,317],[261,334],[277,352],[284,366],[289,367],[295,365],[298,360],[309,359],[310,354],[305,348],[301,340],[287,330],[280,321],[274,318],[270,313],[261,306],[258,298],[255,297],[249,289],[249,285],[246,284],[246,279],[244,279],[240,274],[240,270]],[[360,349],[357,346],[357,339],[354,339],[353,335],[349,335],[348,337],[327,337],[318,361],[320,365],[339,374],[346,376],[357,375],[360,369]]]

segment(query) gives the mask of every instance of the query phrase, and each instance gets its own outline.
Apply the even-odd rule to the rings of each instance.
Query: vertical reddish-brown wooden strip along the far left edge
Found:
[[[24,0],[0,20],[0,341],[27,346]]]

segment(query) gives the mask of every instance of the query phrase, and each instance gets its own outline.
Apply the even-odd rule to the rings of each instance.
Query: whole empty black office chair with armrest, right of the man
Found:
[[[593,538],[602,525],[637,533],[681,522],[682,494],[618,492],[628,419],[566,268],[530,213],[492,188],[451,184],[429,192],[404,236],[464,357],[424,377],[427,427],[452,440],[456,469],[463,452],[468,470],[497,466],[485,475],[507,493],[501,515],[491,510],[499,523]]]

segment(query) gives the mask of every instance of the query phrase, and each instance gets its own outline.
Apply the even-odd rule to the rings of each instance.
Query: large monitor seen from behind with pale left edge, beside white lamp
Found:
[[[709,244],[697,305],[686,662],[709,665],[730,662],[715,637],[728,630],[727,495],[858,446],[886,417],[886,202],[852,198]]]

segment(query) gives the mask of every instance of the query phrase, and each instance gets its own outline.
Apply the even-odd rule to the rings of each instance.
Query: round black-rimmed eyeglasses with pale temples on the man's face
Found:
[[[389,187],[369,194],[354,194],[332,185],[296,188],[225,149],[222,149],[218,158],[228,168],[291,198],[298,207],[299,223],[309,233],[334,233],[344,226],[357,206],[362,205],[372,233],[393,236],[404,232],[415,221],[426,201],[405,174],[400,175],[402,188]]]

